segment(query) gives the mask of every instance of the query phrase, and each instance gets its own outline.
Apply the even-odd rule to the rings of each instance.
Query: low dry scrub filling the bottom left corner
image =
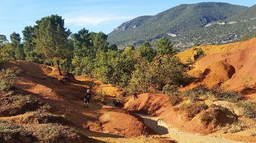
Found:
[[[89,140],[73,127],[59,124],[17,125],[0,120],[1,142],[52,143],[74,142],[83,143]]]

